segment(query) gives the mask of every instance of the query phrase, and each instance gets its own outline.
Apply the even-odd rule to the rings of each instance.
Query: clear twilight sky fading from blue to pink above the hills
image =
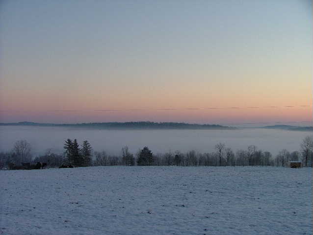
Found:
[[[312,1],[2,0],[0,122],[312,120]]]

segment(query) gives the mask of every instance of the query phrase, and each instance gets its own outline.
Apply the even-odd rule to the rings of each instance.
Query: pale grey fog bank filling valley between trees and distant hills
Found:
[[[213,152],[218,142],[225,143],[234,151],[246,149],[254,144],[258,149],[276,155],[280,150],[296,151],[300,143],[311,132],[238,129],[238,130],[103,130],[64,127],[1,126],[0,151],[10,151],[15,141],[26,140],[32,146],[34,156],[51,148],[52,152],[62,153],[63,144],[68,138],[79,143],[88,140],[95,151],[106,151],[119,155],[121,148],[129,146],[130,152],[148,146],[154,153],[180,150]]]

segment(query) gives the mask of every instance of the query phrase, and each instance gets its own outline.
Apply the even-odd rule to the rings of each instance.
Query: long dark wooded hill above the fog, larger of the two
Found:
[[[206,129],[206,130],[235,130],[235,127],[210,125],[210,124],[190,124],[184,122],[91,122],[77,124],[54,124],[37,122],[12,122],[0,123],[0,126],[60,126],[60,127],[81,127],[97,129]]]

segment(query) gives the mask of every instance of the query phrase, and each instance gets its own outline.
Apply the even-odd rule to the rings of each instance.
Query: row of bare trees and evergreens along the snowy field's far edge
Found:
[[[289,152],[282,149],[276,156],[269,151],[249,145],[246,149],[233,151],[224,143],[217,143],[214,151],[199,153],[166,152],[154,154],[147,146],[137,153],[130,153],[128,146],[121,149],[119,155],[108,155],[105,151],[94,151],[88,141],[81,144],[75,139],[64,142],[64,153],[52,153],[48,149],[45,154],[33,158],[31,145],[25,141],[17,141],[9,152],[0,152],[0,167],[10,164],[20,166],[23,163],[47,163],[48,167],[59,167],[62,164],[72,166],[100,165],[177,165],[177,166],[288,166],[289,161],[301,161],[303,166],[313,166],[313,138],[307,136],[300,144],[299,151]]]

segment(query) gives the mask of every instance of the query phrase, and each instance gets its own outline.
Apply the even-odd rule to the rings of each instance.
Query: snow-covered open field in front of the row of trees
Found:
[[[312,169],[0,171],[3,235],[312,235]]]

